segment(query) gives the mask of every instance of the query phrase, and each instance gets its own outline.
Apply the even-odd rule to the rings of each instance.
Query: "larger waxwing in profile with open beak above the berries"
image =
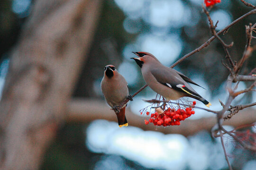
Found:
[[[200,86],[184,74],[164,66],[149,52],[133,52],[138,57],[134,59],[141,68],[142,76],[146,84],[156,93],[162,95],[165,100],[178,100],[181,97],[192,97],[203,102],[207,107],[211,103],[201,97],[188,83]],[[201,87],[201,86],[200,86]],[[203,88],[203,87],[202,87]]]

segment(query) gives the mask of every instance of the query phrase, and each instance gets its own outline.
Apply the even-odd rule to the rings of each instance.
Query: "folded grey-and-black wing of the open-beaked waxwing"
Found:
[[[169,68],[158,68],[151,69],[150,71],[152,75],[155,77],[158,83],[165,85],[174,90],[180,91],[182,93],[187,93],[194,97],[201,97],[198,93],[192,89],[190,85],[188,85],[183,78],[174,71],[174,69]]]

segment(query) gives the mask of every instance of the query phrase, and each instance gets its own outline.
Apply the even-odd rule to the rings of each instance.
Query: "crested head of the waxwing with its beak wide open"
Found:
[[[158,61],[158,59],[156,59],[155,56],[150,54],[149,52],[132,52],[132,53],[138,56],[138,58],[131,58],[131,59],[134,59],[140,68],[142,68],[144,63],[150,62],[150,60]]]

